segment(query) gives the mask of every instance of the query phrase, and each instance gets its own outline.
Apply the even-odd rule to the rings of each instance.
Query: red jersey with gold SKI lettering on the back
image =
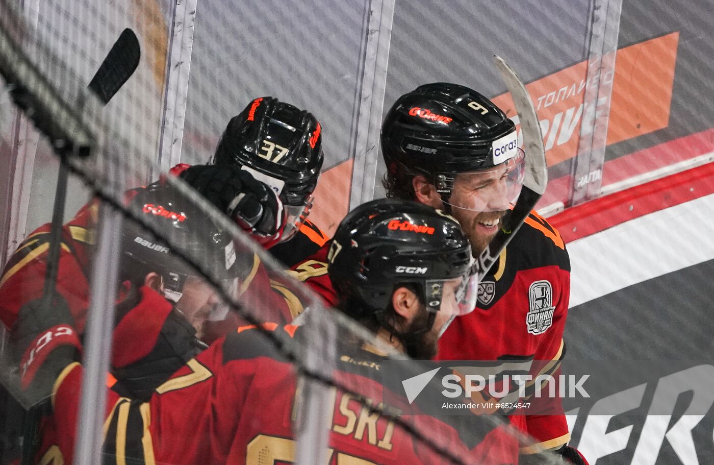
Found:
[[[264,327],[286,347],[304,344],[296,326]],[[188,361],[147,403],[110,391],[104,453],[116,457],[118,464],[292,462],[300,388],[294,366],[274,347],[261,331],[241,328]],[[374,351],[343,345],[338,349],[336,381],[358,386],[359,394],[376,406],[381,399],[382,361]],[[56,381],[51,399],[56,444],[46,449],[43,462],[53,457],[72,461],[81,371],[79,364],[71,364]],[[323,463],[448,463],[440,451],[416,439],[391,416],[370,412],[352,394],[332,389],[331,404],[331,449]],[[426,415],[398,418],[465,464],[513,463],[503,457],[503,438],[492,434],[493,442],[481,441],[483,429],[493,428],[484,425],[482,417],[453,425]]]

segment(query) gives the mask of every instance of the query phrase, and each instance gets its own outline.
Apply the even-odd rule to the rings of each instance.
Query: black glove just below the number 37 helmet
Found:
[[[265,249],[277,244],[286,226],[286,211],[278,194],[238,166],[191,166],[181,172],[211,204],[225,212]]]

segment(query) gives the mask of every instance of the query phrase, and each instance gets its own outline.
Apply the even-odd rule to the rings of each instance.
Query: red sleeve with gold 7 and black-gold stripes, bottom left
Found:
[[[117,465],[225,463],[241,409],[260,364],[239,369],[224,356],[226,341],[189,360],[147,402],[107,392],[105,463]],[[83,368],[67,366],[51,402],[56,441],[65,463],[74,459]]]

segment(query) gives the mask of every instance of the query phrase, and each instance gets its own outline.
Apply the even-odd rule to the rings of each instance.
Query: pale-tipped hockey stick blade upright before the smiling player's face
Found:
[[[535,204],[538,203],[548,184],[548,166],[545,164],[543,136],[540,134],[540,123],[537,114],[535,114],[531,96],[528,94],[526,86],[523,85],[523,81],[518,78],[516,71],[513,71],[506,61],[496,55],[493,57],[493,61],[501,73],[501,79],[506,84],[508,91],[511,92],[518,117],[521,119],[523,150],[526,152],[526,176],[523,179],[523,189],[521,189],[516,205],[503,217],[501,229],[498,229],[496,236],[493,236],[491,242],[486,246],[486,250],[476,260],[473,271],[478,274],[479,281],[486,276],[508,242],[521,228],[523,221],[535,208]]]

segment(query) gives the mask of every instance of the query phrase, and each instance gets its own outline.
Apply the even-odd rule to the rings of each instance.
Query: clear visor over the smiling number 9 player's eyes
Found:
[[[523,187],[525,154],[490,169],[459,173],[454,177],[451,196],[444,201],[452,208],[471,211],[505,211],[515,204]]]

